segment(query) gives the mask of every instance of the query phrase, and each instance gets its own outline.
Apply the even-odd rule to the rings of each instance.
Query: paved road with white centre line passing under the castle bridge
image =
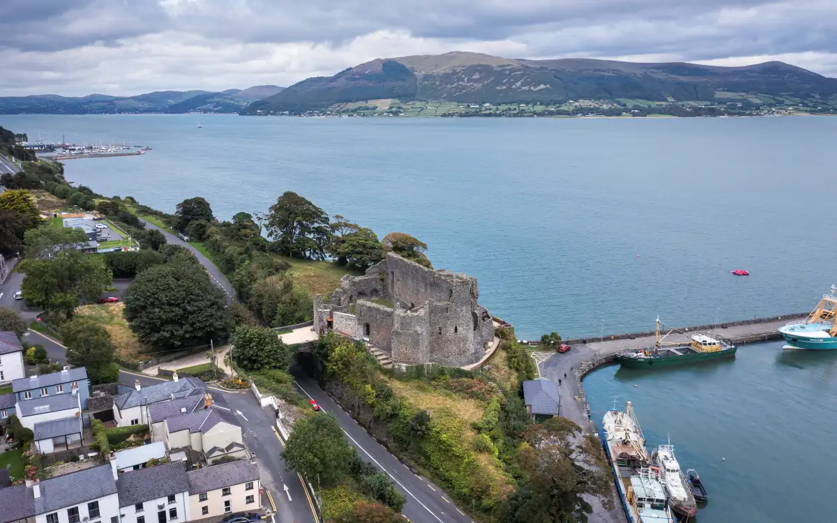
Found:
[[[349,438],[349,443],[357,448],[357,452],[363,459],[376,464],[379,469],[383,469],[389,474],[398,492],[407,498],[402,513],[409,520],[427,521],[429,523],[472,522],[468,515],[465,515],[454,505],[449,495],[431,483],[429,479],[413,474],[412,470],[398,461],[393,454],[390,454],[387,449],[384,449],[366,430],[358,425],[351,416],[343,412],[326,392],[317,387],[316,382],[297,370],[294,372],[294,377],[297,387],[303,394],[315,400],[327,413],[335,415],[337,423],[340,424],[343,432]]]

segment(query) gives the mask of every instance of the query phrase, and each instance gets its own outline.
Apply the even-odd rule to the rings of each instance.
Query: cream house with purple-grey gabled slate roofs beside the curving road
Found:
[[[223,396],[204,392],[151,405],[148,412],[151,437],[169,450],[192,449],[209,464],[224,456],[247,457],[241,425]]]

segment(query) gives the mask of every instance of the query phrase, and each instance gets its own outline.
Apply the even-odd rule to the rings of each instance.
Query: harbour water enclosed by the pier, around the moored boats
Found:
[[[709,493],[700,521],[833,523],[837,351],[782,345],[655,372],[604,367],[584,378],[591,418],[630,400],[649,451],[670,436]]]

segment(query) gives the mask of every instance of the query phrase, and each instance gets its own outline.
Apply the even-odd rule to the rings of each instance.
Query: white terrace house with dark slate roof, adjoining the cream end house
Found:
[[[186,464],[182,461],[119,474],[116,491],[121,523],[191,520],[188,490]]]

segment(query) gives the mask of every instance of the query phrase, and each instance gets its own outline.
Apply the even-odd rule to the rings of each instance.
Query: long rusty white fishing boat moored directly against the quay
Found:
[[[645,437],[634,408],[614,408],[602,420],[602,446],[614,473],[616,489],[629,523],[673,523],[660,482],[659,469],[650,469]]]

